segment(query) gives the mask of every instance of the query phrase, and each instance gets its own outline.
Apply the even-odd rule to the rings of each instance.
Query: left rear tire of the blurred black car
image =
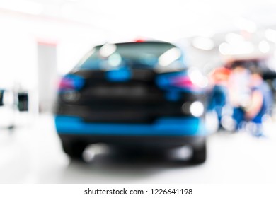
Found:
[[[67,155],[72,159],[77,159],[83,161],[83,153],[87,144],[84,142],[62,142],[62,148]]]

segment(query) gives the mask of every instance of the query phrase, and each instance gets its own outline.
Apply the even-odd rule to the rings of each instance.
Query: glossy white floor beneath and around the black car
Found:
[[[276,124],[268,137],[246,133],[209,136],[203,165],[168,160],[115,158],[70,161],[62,152],[50,115],[14,132],[0,130],[0,183],[270,183],[276,182]],[[275,134],[274,134],[275,132]]]

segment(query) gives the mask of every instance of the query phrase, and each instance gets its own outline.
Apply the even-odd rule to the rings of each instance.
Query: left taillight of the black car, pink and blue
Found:
[[[84,78],[69,74],[59,82],[59,91],[79,90],[84,86]]]

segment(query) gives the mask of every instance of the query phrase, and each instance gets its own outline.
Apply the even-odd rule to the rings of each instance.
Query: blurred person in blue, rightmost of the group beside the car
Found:
[[[251,132],[255,136],[263,136],[263,118],[265,116],[271,116],[272,113],[272,91],[263,80],[261,71],[256,65],[249,67],[251,71],[250,88],[251,98],[250,103],[245,108],[246,120],[253,124]]]

